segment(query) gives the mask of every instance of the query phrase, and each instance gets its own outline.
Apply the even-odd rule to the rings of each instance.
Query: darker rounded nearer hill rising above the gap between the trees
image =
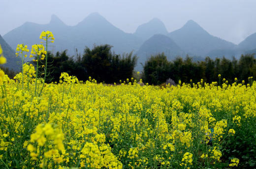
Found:
[[[164,53],[168,60],[171,60],[178,55],[184,55],[181,48],[168,36],[156,34],[145,41],[136,52],[136,55],[138,56],[138,64],[135,69],[141,71],[142,66],[140,63],[144,64],[147,58],[160,53]]]

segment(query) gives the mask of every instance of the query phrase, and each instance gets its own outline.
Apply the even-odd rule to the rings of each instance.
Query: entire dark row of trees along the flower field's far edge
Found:
[[[82,56],[76,58],[69,57],[67,51],[57,52],[56,55],[48,54],[47,82],[59,82],[62,72],[76,76],[79,80],[86,81],[89,76],[96,79],[97,82],[107,84],[118,83],[131,78],[133,69],[137,62],[137,57],[131,53],[117,55],[111,52],[112,46],[100,45],[93,49],[85,48]],[[32,62],[35,64],[35,62]],[[39,72],[44,72],[44,61],[40,60]],[[14,71],[8,68],[2,68],[10,78],[15,75]],[[164,53],[151,56],[143,66],[143,82],[159,85],[171,78],[176,83],[181,80],[185,83],[200,82],[219,82],[218,75],[221,74],[229,83],[238,82],[248,77],[256,77],[256,58],[254,55],[242,55],[239,60],[233,57],[229,60],[225,57],[215,60],[206,57],[204,61],[193,62],[192,57],[185,59],[177,57],[173,61],[168,61]],[[40,75],[39,75],[40,76]],[[41,74],[43,77],[44,74]]]

